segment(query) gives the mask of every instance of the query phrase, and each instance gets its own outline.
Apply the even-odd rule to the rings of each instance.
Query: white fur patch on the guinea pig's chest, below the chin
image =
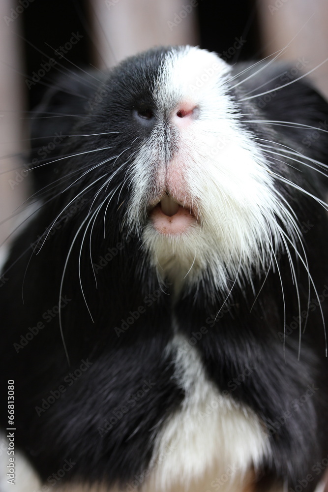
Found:
[[[269,455],[268,435],[252,410],[220,395],[196,349],[185,353],[183,342],[177,335],[169,350],[186,396],[156,436],[149,490],[193,491],[204,476],[212,477],[213,486],[221,477],[220,491],[242,490],[247,472]]]

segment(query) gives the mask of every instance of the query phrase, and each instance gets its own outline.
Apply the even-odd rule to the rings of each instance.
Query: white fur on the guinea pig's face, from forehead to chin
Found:
[[[197,88],[206,70],[211,76]],[[165,236],[148,221],[144,245],[162,277],[179,283],[186,276],[187,282],[195,283],[209,276],[214,289],[226,291],[228,279],[242,285],[253,267],[268,267],[275,253],[273,239],[276,246],[284,241],[276,216],[287,224],[292,241],[298,234],[274,189],[265,157],[236,117],[229,77],[230,67],[213,53],[186,47],[168,54],[154,92],[159,114],[187,103],[199,108],[199,116],[190,125],[172,128],[171,136],[158,122],[131,166],[133,194],[127,217],[131,228],[138,227],[149,197],[157,196],[158,201],[165,172],[174,176],[174,167],[183,175],[180,192],[189,197],[187,203],[191,197],[197,223],[179,236]],[[168,159],[174,136],[178,151]],[[179,178],[177,193],[178,188]]]

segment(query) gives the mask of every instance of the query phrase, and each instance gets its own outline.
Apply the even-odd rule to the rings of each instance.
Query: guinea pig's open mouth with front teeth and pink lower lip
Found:
[[[149,217],[157,232],[169,235],[182,234],[196,222],[191,207],[183,207],[168,194],[150,211]]]

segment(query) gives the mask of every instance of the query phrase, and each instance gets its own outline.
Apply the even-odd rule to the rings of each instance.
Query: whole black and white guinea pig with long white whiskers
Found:
[[[19,492],[320,485],[328,105],[292,70],[166,47],[45,94],[0,290]]]

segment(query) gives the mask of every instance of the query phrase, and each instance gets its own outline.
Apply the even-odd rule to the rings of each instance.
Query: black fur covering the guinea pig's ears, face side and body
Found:
[[[59,81],[36,113],[75,116],[34,122],[32,136],[37,140],[34,140],[36,148],[32,158],[41,164],[54,162],[34,166],[36,196],[42,198],[43,205],[15,240],[3,269],[8,280],[0,291],[1,394],[5,394],[7,380],[14,379],[15,419],[19,430],[16,444],[44,480],[59,469],[65,459],[76,462],[63,479],[67,481],[104,480],[108,485],[116,481],[124,484],[134,475],[140,475],[149,465],[155,433],[183,399],[183,392],[173,378],[172,360],[164,356],[165,347],[173,336],[175,315],[179,330],[188,339],[202,326],[208,328],[195,347],[209,378],[221,391],[227,391],[252,408],[271,435],[273,455],[259,472],[259,490],[268,490],[286,477],[288,487],[294,488],[298,480],[308,473],[313,474],[311,469],[317,461],[328,455],[328,435],[324,431],[328,418],[327,359],[320,308],[309,309],[298,360],[298,328],[287,334],[285,341],[282,335],[284,306],[276,268],[270,269],[264,285],[266,272],[261,276],[254,274],[255,292],[260,294],[252,309],[255,296],[251,286],[245,285],[241,292],[236,284],[226,301],[228,312],[214,321],[226,293],[216,293],[213,300],[208,296],[207,286],[200,284],[182,292],[173,305],[169,295],[171,286],[166,284],[163,288],[159,284],[138,235],[128,235],[122,225],[129,198],[127,169],[134,153],[147,141],[152,124],[151,115],[143,121],[138,111],[144,108],[156,111],[151,92],[164,56],[165,50],[158,49],[127,60],[101,83],[93,76],[84,78],[82,75],[77,75],[75,80]],[[240,67],[244,68],[244,65]],[[236,73],[238,69],[237,65]],[[299,152],[327,165],[328,138],[324,131],[319,130],[319,138],[307,146],[308,134],[314,130],[248,123],[254,119],[282,120],[320,127],[320,122],[326,122],[327,103],[303,82],[277,90],[265,107],[261,107],[259,99],[239,102],[244,92],[271,80],[272,74],[278,75],[281,70],[280,65],[272,65],[255,74],[242,89],[231,91],[240,113],[251,113],[251,116],[240,117],[240,124],[257,137],[293,149],[301,147]],[[261,91],[273,88],[274,84],[268,82]],[[65,93],[68,86],[70,93],[76,95]],[[51,141],[45,137],[60,131],[62,135],[91,136],[64,137],[60,146],[43,161],[39,149]],[[103,134],[92,136],[95,133]],[[89,152],[95,148],[100,150]],[[78,153],[80,155],[64,158]],[[88,173],[91,167],[112,156],[117,158]],[[274,172],[325,200],[327,179],[323,175],[294,160],[280,159],[283,162],[268,154]],[[96,196],[98,189],[109,173],[119,169],[125,161],[127,163],[109,185],[115,190],[127,172],[119,200],[115,195],[106,212],[105,236],[104,211],[95,216],[90,248],[96,273],[90,262],[89,234],[82,248],[79,272],[84,227],[67,264],[61,289],[64,298],[61,319],[68,366],[59,316],[55,315],[48,322],[52,315],[48,313],[47,317],[46,313],[59,304],[60,282],[73,238],[89,209],[92,215],[106,196],[106,186]],[[76,181],[78,178],[81,179]],[[322,295],[328,280],[326,212],[297,189],[283,183],[278,186],[305,228],[303,242],[309,271],[318,294]],[[74,199],[76,196],[78,198]],[[72,206],[75,208],[70,209]],[[59,228],[51,228],[58,215]],[[109,249],[110,261],[106,260]],[[286,325],[290,327],[293,316],[298,316],[297,291],[285,251],[280,251],[278,261],[284,285]],[[296,255],[294,263],[298,264],[301,311],[306,311],[308,277]],[[94,322],[82,294],[79,274]],[[311,299],[316,299],[313,287]],[[144,307],[145,312],[126,331],[121,330],[122,322],[131,312],[137,317],[140,307]],[[321,307],[326,316],[326,298]],[[23,346],[21,336],[38,322],[42,322],[44,328]],[[84,360],[91,363],[89,368],[74,384],[68,385],[68,374],[78,369]],[[231,381],[242,373],[245,365],[255,369],[242,383],[234,385]],[[35,407],[42,408],[42,399],[47,399],[60,385],[65,387],[60,398],[45,411],[37,411]],[[296,400],[309,388],[312,388],[311,397],[301,401],[297,408]],[[143,392],[143,396],[131,397],[138,391]],[[291,416],[281,424],[286,412]],[[1,422],[6,420],[3,411]],[[319,478],[314,475],[314,481],[304,490],[313,491]]]

